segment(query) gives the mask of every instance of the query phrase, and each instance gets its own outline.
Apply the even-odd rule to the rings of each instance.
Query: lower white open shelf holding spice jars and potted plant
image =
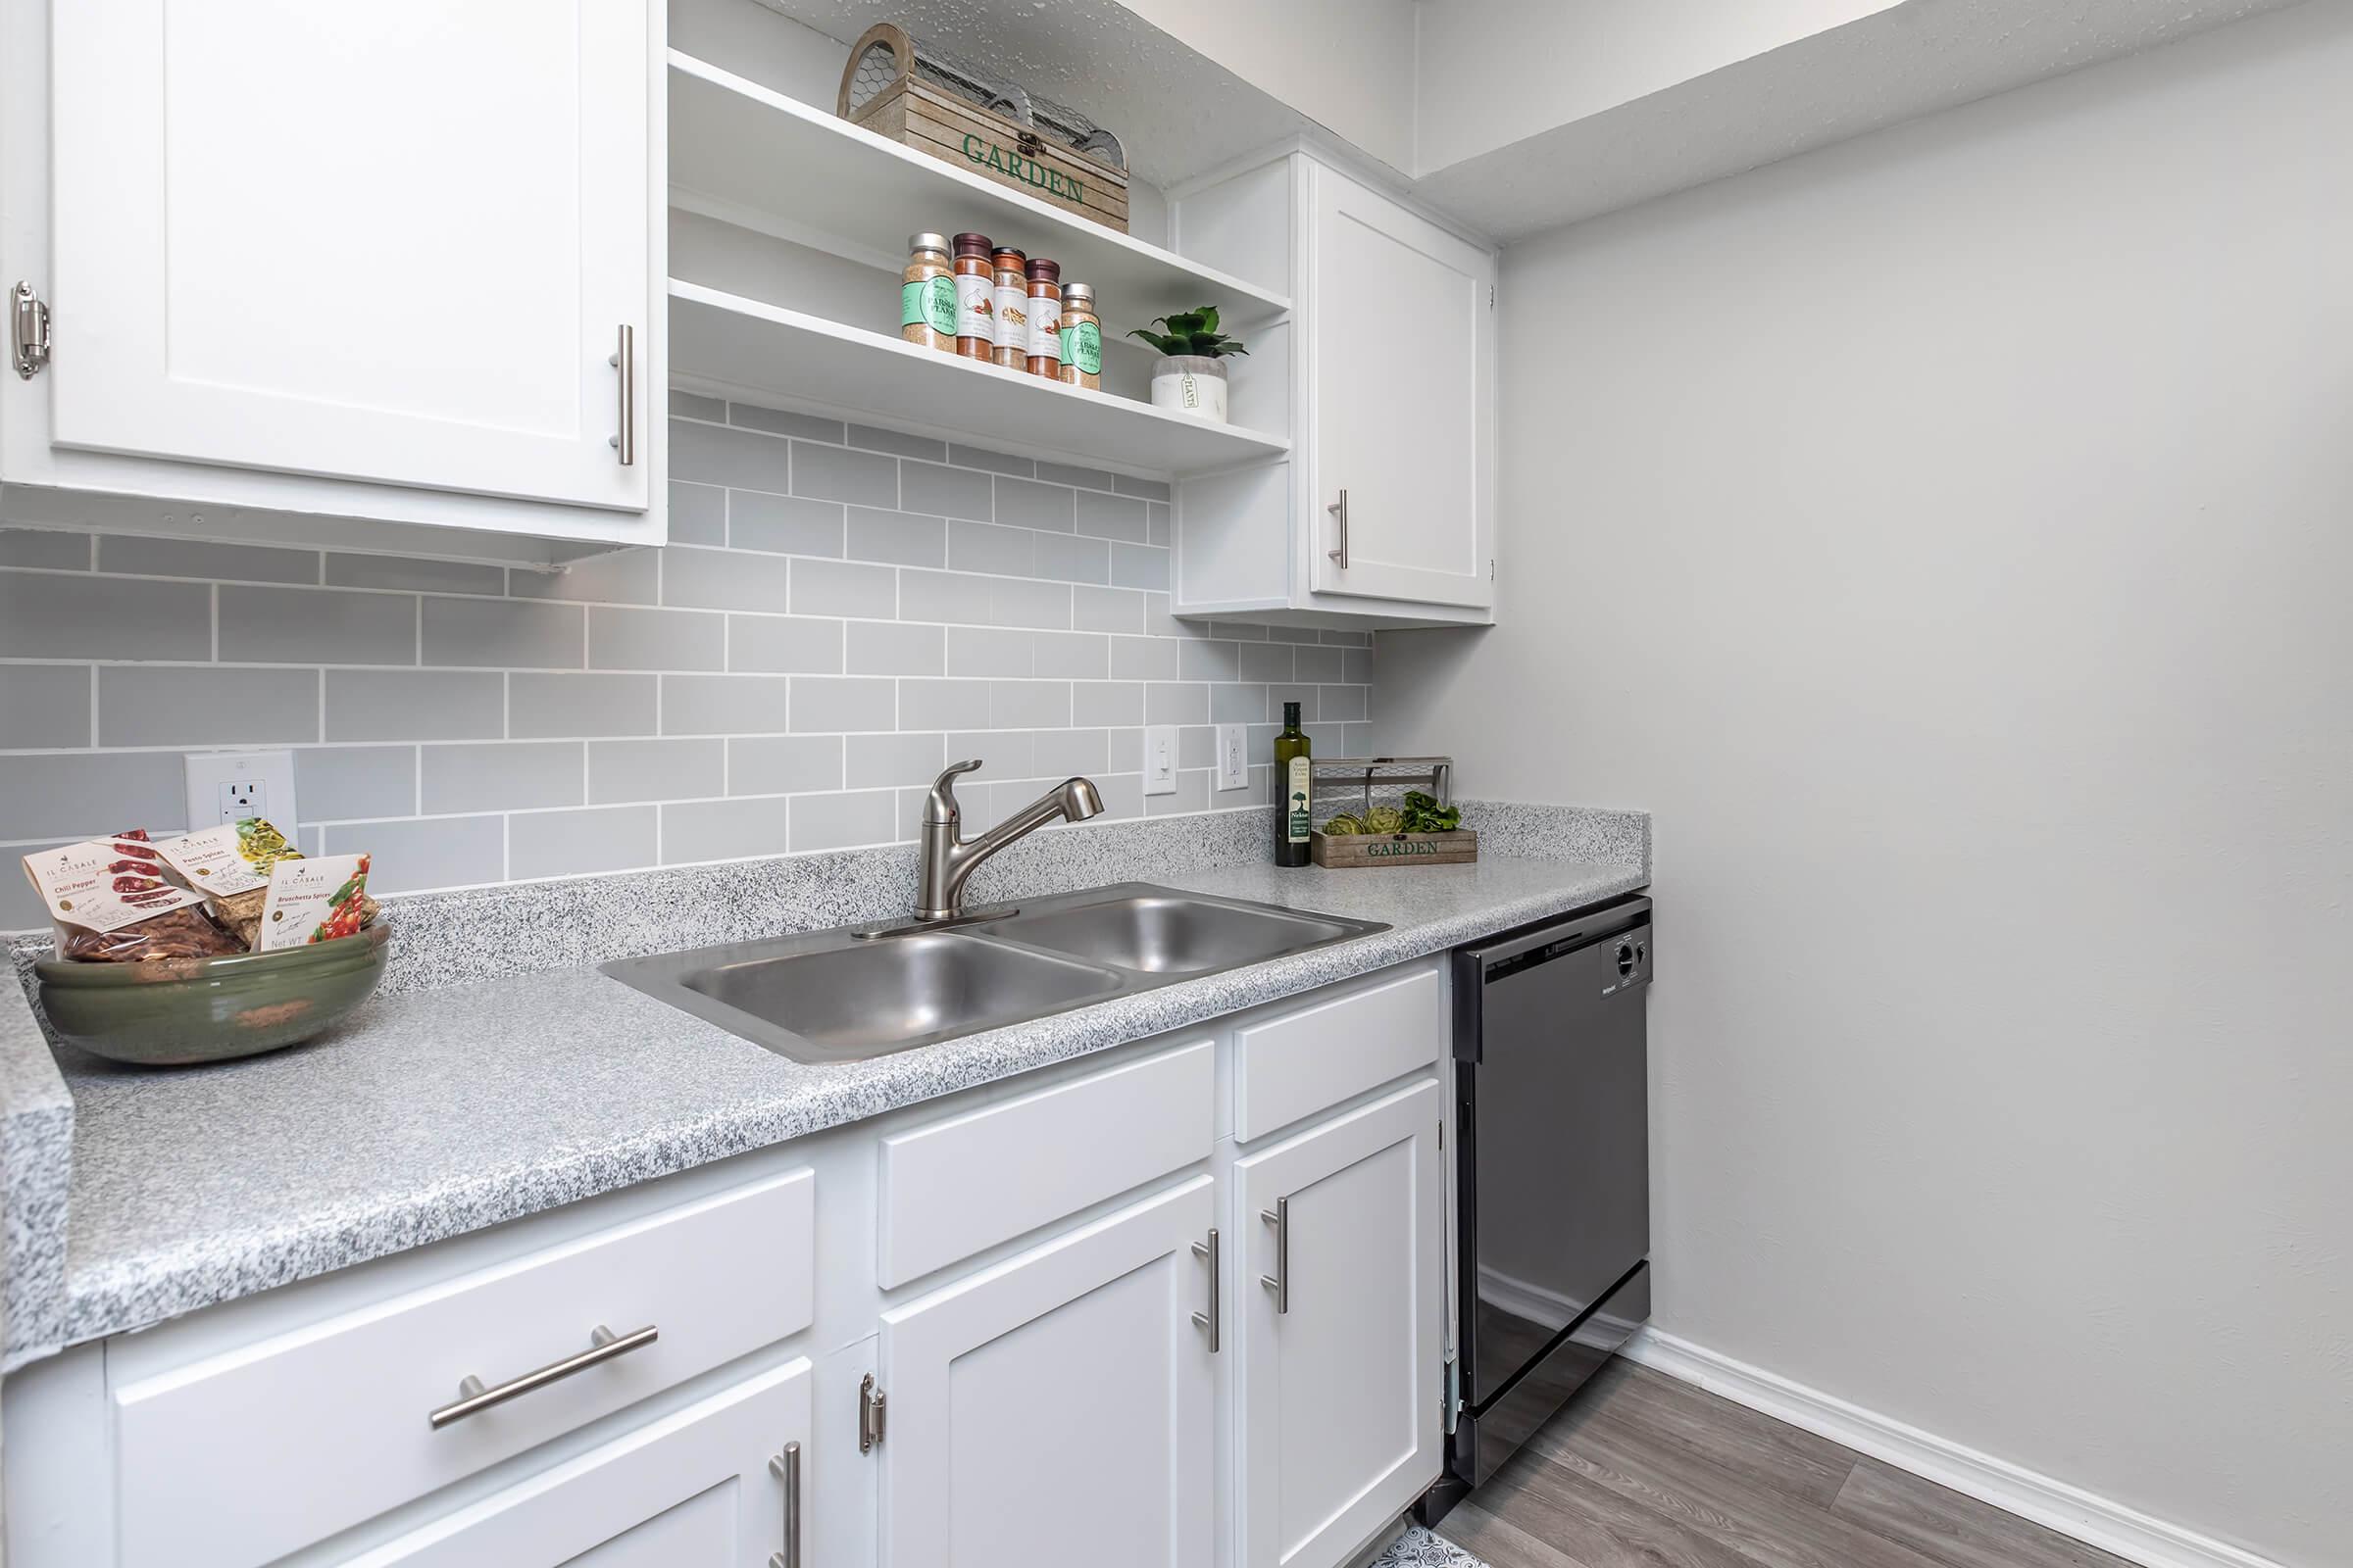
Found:
[[[976,447],[1174,480],[1278,458],[1282,437],[1214,425],[864,327],[671,280],[671,374],[739,397],[922,425]]]

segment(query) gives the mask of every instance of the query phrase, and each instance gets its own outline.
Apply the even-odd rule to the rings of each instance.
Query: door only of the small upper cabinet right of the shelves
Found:
[[[1308,581],[1494,604],[1494,259],[1308,169]]]

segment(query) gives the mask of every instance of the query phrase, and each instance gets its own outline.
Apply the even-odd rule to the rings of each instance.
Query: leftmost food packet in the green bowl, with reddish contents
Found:
[[[66,959],[136,964],[245,952],[205,914],[202,896],[172,882],[144,830],[24,858]]]

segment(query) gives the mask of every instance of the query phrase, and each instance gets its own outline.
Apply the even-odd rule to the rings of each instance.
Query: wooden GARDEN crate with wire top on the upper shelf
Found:
[[[906,28],[885,21],[866,28],[866,35],[852,45],[835,113],[878,136],[984,179],[1016,186],[1040,202],[1082,214],[1125,235],[1127,172],[1054,139],[1038,125],[1021,125],[953,89],[955,82],[976,82],[976,71],[936,56],[922,42],[911,40]],[[882,85],[875,87],[875,82]],[[1028,113],[1028,94],[1019,94],[1016,101]],[[1040,103],[1038,108],[1047,110],[1049,106]],[[1068,110],[1049,113],[1089,125]],[[1092,139],[1118,148],[1108,134],[1092,132]]]

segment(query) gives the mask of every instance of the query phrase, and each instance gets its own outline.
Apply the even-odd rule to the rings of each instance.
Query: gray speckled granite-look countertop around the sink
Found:
[[[1261,813],[1226,816],[1249,830],[1226,832],[1224,853],[1249,863],[1172,870],[1165,832],[1129,842],[1075,830],[1045,835],[1061,844],[1040,846],[991,896],[1148,879],[1391,931],[840,1065],[774,1056],[579,961],[442,987],[388,978],[391,994],[329,1039],[245,1063],[158,1072],[56,1051],[73,1100],[64,1267],[42,1269],[38,1237],[31,1258],[9,1237],[9,1295],[31,1307],[24,1333],[9,1324],[9,1363],[1292,997],[1649,882],[1649,820],[1638,813],[1487,806],[1475,813],[1485,860],[1377,872],[1275,870],[1257,856]],[[873,856],[885,858],[880,870],[866,865],[849,882],[899,886],[904,856]],[[760,865],[802,882],[824,870]],[[840,893],[849,882],[838,865],[824,870],[833,896],[809,893],[807,919],[762,929],[889,912],[866,907],[866,893]],[[635,886],[633,900],[645,893],[642,879],[598,879],[576,884],[588,889],[579,896],[605,896],[600,884]],[[466,907],[459,896],[395,905],[395,947],[414,936],[433,950],[449,936],[442,922]],[[715,938],[687,933],[668,947],[699,940]],[[7,1009],[24,1018],[31,1009],[16,987],[0,992],[5,1046]],[[33,1044],[49,1056],[38,1034]],[[59,1295],[42,1302],[45,1291]]]

